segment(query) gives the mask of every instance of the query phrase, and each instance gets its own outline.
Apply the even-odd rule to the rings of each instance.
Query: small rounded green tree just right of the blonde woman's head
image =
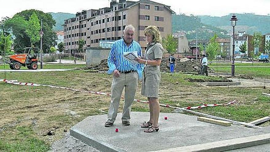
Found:
[[[174,54],[177,48],[177,41],[172,36],[172,34],[168,34],[167,37],[163,38],[162,45],[164,49],[168,51],[169,54]]]

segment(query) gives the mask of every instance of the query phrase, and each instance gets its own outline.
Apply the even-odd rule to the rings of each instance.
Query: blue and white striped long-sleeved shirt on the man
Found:
[[[137,51],[138,57],[141,56],[141,45],[138,42],[133,40],[132,44],[127,47],[124,39],[115,41],[108,57],[108,74],[114,72],[115,69],[117,69],[118,71],[134,70],[138,72],[139,79],[141,79],[143,64],[133,65],[129,61],[125,60],[124,57],[122,57],[122,54],[124,52],[134,51]]]

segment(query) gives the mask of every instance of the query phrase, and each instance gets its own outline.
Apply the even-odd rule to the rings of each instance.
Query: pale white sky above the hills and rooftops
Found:
[[[117,0],[118,1],[118,0]],[[132,0],[138,1],[138,0]],[[152,0],[168,6],[176,14],[225,16],[230,13],[270,14],[270,0]],[[44,13],[75,14],[82,10],[109,6],[110,0],[1,0],[0,20],[23,10],[36,9]]]

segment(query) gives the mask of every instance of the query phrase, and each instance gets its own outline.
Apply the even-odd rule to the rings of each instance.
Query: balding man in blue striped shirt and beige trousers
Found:
[[[134,41],[135,28],[128,25],[124,30],[124,38],[115,41],[108,57],[108,74],[113,74],[111,86],[111,102],[108,111],[108,119],[105,127],[111,127],[116,119],[117,110],[123,89],[125,88],[125,103],[122,112],[122,123],[130,125],[130,111],[134,96],[137,90],[138,77],[142,77],[142,64],[133,65],[125,60],[122,55],[124,52],[136,51],[141,56],[141,46]]]

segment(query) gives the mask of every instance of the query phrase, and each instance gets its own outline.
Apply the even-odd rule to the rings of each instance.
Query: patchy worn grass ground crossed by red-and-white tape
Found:
[[[48,66],[52,66],[50,68],[55,68],[55,66],[71,68],[71,65]],[[4,72],[0,72],[0,79],[3,76]],[[90,70],[6,72],[6,77],[8,80],[20,82],[106,93],[110,93],[112,81],[111,75],[92,73]],[[162,73],[160,103],[188,107],[237,100],[237,103],[233,105],[206,107],[195,111],[242,122],[250,122],[268,116],[270,113],[270,97],[261,94],[262,92],[269,93],[269,90],[261,88],[206,88],[189,82],[187,80],[189,78],[223,79],[191,74]],[[141,95],[141,81],[138,82],[135,99],[147,100]],[[107,114],[109,103],[110,96],[106,95],[0,82],[0,151],[48,151],[53,142],[64,137],[66,134],[64,130],[69,130],[87,116]],[[122,111],[122,107],[123,101],[121,100],[119,112]],[[174,110],[161,107],[161,112],[172,113]],[[68,111],[74,111],[77,115],[70,115]],[[134,102],[132,111],[149,111],[149,105]],[[270,123],[264,125],[267,126]],[[55,135],[44,135],[49,128],[55,128]]]

